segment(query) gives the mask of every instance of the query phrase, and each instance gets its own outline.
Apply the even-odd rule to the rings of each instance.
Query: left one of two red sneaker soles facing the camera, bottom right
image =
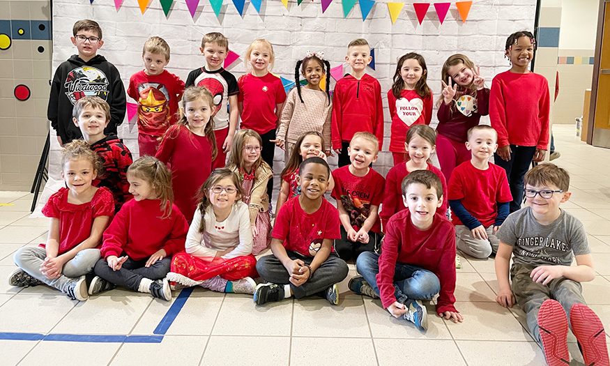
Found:
[[[556,300],[544,300],[538,312],[542,350],[549,366],[570,365],[567,351],[567,317]],[[604,337],[604,342],[606,342]]]

